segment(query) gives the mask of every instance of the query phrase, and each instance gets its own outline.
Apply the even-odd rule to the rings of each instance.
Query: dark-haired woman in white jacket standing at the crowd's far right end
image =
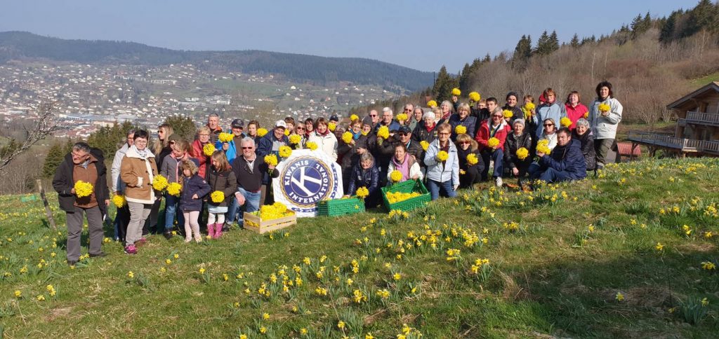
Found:
[[[612,84],[608,81],[597,85],[597,98],[589,107],[589,122],[595,134],[594,148],[597,153],[597,169],[604,168],[606,156],[614,145],[617,135],[617,126],[622,120],[622,104],[614,98]],[[606,105],[608,110],[600,110],[600,105]],[[605,108],[605,107],[603,107]]]

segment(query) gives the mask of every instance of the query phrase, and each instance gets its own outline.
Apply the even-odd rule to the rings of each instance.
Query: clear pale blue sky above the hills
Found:
[[[366,57],[459,71],[465,62],[513,51],[545,29],[566,42],[608,34],[649,11],[666,16],[697,0],[601,1],[7,1],[0,31],[63,39],[110,39],[193,50],[262,49]],[[547,4],[542,4],[547,2]]]

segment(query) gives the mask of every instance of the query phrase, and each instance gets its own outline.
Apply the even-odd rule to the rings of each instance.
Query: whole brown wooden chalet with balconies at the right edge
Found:
[[[710,82],[667,105],[679,117],[672,134],[630,131],[632,148],[646,145],[678,156],[719,156],[719,82]]]

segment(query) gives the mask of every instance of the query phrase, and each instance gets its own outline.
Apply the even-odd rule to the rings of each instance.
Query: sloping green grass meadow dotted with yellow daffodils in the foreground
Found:
[[[640,161],[531,199],[482,186],[408,219],[381,211],[301,219],[271,237],[233,230],[202,244],[153,236],[135,256],[109,242],[108,257],[74,268],[64,227],[43,226],[37,201],[3,196],[0,324],[8,338],[301,338],[303,328],[304,338],[396,338],[403,324],[424,338],[711,338],[719,274],[702,262],[719,264],[718,167],[717,159]],[[62,225],[64,214],[55,216]],[[459,254],[448,260],[448,249]],[[472,272],[475,259],[489,264]],[[283,292],[283,274],[303,284]],[[262,283],[269,296],[258,293]],[[387,299],[377,295],[385,289]],[[367,300],[354,302],[354,290]]]

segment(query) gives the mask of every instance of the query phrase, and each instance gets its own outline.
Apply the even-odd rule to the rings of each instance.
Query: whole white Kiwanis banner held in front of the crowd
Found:
[[[342,168],[322,151],[293,150],[277,166],[273,179],[275,201],[285,204],[298,217],[316,216],[317,202],[342,198]]]

